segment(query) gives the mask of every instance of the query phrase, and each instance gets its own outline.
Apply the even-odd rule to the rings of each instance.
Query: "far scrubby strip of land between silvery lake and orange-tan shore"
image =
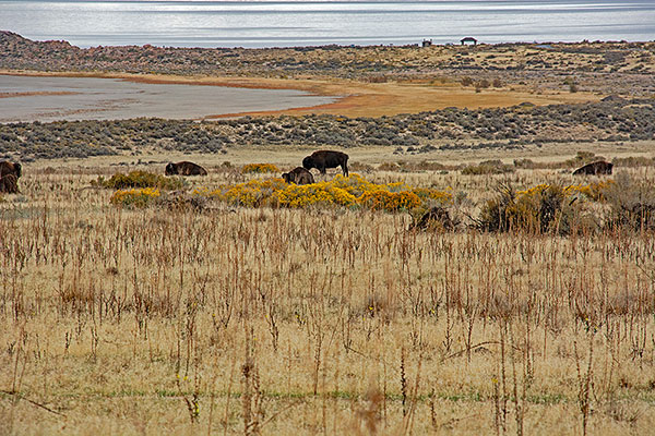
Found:
[[[499,44],[475,47],[319,46],[294,48],[79,48],[62,40],[33,41],[0,32],[0,69],[341,77],[362,82],[500,80],[561,89],[564,80],[587,82],[602,94],[652,95],[655,43]]]

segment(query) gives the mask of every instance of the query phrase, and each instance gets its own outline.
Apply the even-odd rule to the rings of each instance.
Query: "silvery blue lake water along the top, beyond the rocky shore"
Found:
[[[655,1],[0,0],[0,29],[81,47],[642,41],[655,39]]]

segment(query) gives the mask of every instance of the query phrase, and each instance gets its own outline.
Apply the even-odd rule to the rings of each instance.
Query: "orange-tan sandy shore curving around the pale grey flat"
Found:
[[[508,85],[502,88],[474,89],[456,82],[433,83],[427,81],[364,83],[337,78],[270,78],[242,76],[179,76],[164,74],[39,72],[25,70],[0,70],[3,75],[60,76],[119,78],[146,84],[183,84],[196,86],[223,86],[252,89],[295,89],[317,96],[335,98],[334,102],[283,110],[233,112],[211,114],[206,118],[231,118],[241,116],[305,116],[341,114],[347,117],[382,117],[415,113],[448,107],[467,109],[515,106],[524,101],[534,105],[576,104],[597,101],[603,95],[591,93],[539,92],[528,86]]]

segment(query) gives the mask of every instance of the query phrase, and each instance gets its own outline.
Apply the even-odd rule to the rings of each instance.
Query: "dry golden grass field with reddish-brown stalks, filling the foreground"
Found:
[[[348,153],[371,166],[367,180],[450,190],[471,216],[499,182],[598,180],[382,171],[400,159],[382,149]],[[476,157],[565,155],[496,153]],[[286,169],[305,154],[258,148],[255,161]],[[272,177],[221,169],[252,156],[193,156],[210,177],[184,190]],[[451,158],[475,158],[462,156]],[[167,158],[129,169],[163,173]],[[337,206],[119,207],[91,182],[120,159],[37,161],[22,192],[2,196],[0,434],[655,426],[652,232],[409,231],[406,211]],[[655,179],[651,167],[619,171]]]

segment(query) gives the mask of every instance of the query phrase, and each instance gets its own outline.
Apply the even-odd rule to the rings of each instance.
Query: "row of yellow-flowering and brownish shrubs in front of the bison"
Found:
[[[115,184],[120,186],[120,184]],[[158,186],[132,187],[111,196],[116,205],[145,207],[164,204]],[[357,173],[336,175],[331,181],[297,185],[283,179],[253,179],[217,189],[196,187],[190,196],[171,198],[169,207],[180,202],[201,210],[210,201],[245,207],[347,207],[409,211],[419,229],[455,230],[462,222],[452,217],[453,195],[448,191],[416,187],[404,182],[371,183]],[[457,213],[456,207],[454,211]],[[451,210],[453,211],[453,210]],[[456,215],[461,215],[457,213]],[[419,219],[420,218],[420,219]],[[485,202],[473,227],[488,232],[526,232],[531,234],[593,233],[598,230],[655,230],[655,189],[648,181],[634,181],[626,174],[617,180],[590,184],[539,184],[523,191],[501,184],[496,195]],[[431,221],[439,221],[433,226]],[[424,222],[425,221],[425,222]]]

